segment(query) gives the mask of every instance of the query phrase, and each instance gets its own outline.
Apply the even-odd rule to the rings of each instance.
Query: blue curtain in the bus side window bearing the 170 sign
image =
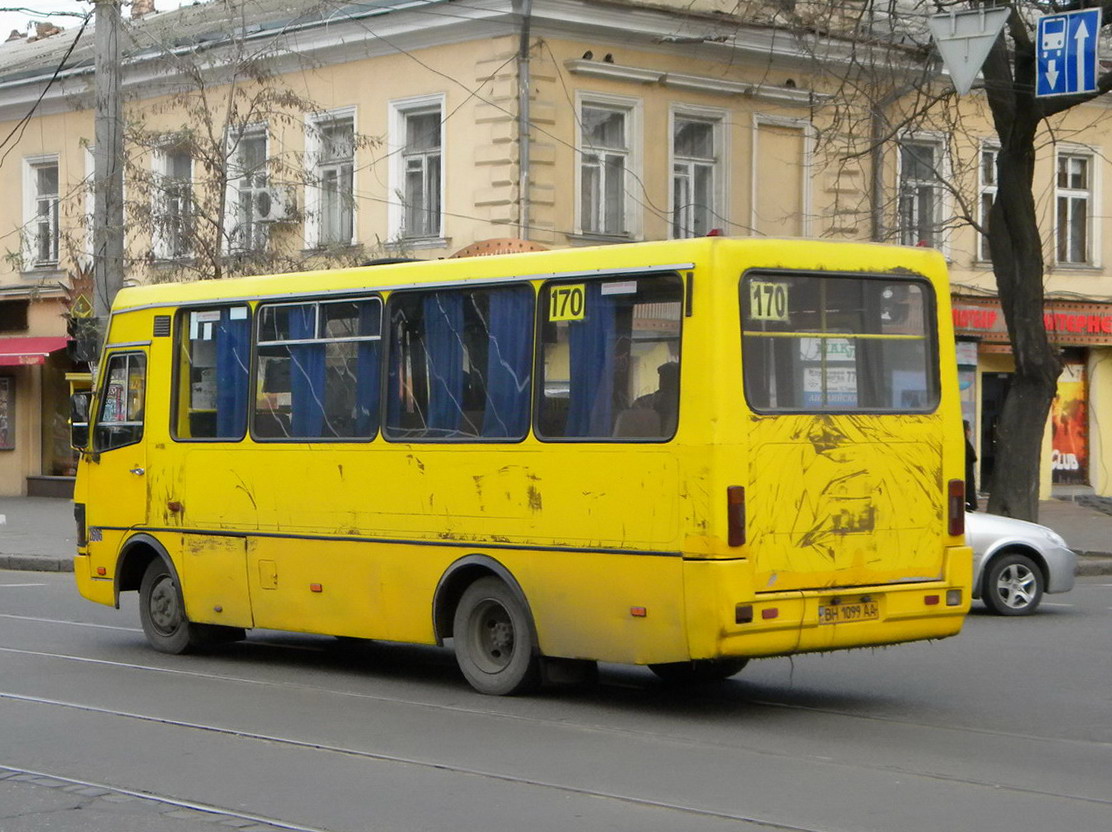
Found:
[[[570,394],[565,436],[609,436],[614,418],[614,353],[617,333],[612,296],[587,284],[586,317],[568,324]]]

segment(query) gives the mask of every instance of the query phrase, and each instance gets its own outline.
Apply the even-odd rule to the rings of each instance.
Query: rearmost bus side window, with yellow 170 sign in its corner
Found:
[[[678,276],[550,283],[540,304],[538,435],[671,438],[679,417]]]

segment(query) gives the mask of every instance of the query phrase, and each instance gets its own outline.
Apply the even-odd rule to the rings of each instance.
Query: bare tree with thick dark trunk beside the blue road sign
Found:
[[[926,19],[982,6],[1006,7],[1010,16],[982,69],[983,93],[959,100],[941,76]],[[1112,89],[1108,72],[1098,79],[1095,92],[1037,98],[1034,29],[1041,14],[1093,6],[1098,3],[1084,0],[754,0],[733,9],[735,16],[782,28],[811,52],[822,98],[813,119],[825,164],[842,171],[867,160],[862,167],[872,171],[872,185],[857,195],[858,201],[847,204],[854,192],[846,190],[833,210],[867,210],[873,239],[909,241],[898,234],[906,195],[891,187],[895,166],[885,161],[886,153],[901,137],[917,131],[947,137],[949,159],[931,165],[937,187],[951,197],[952,210],[940,225],[972,226],[986,237],[1015,359],[996,427],[989,511],[1027,519],[1037,516],[1043,432],[1061,372],[1059,349],[1043,323],[1048,249],[1033,190],[1035,160],[1040,150],[1064,137],[1062,113]],[[1112,22],[1112,0],[1099,6],[1102,26]],[[997,191],[986,224],[977,210],[974,174],[980,157],[975,133],[983,133],[985,120],[999,139]]]

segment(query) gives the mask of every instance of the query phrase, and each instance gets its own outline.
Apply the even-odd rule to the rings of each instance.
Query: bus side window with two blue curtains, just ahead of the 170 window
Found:
[[[523,438],[533,320],[528,284],[391,297],[387,438]]]

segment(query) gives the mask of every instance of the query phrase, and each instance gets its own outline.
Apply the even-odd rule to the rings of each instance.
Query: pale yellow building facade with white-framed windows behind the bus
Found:
[[[887,129],[868,113],[898,125],[906,102],[875,79],[875,101],[847,97],[846,42],[816,56],[773,6],[242,0],[125,20],[125,277],[431,259],[502,237],[931,245],[950,261],[964,412],[991,476],[1011,356],[969,225],[994,188],[981,93]],[[58,435],[64,376],[83,365],[62,289],[92,258],[95,156],[93,40],[77,34],[0,44],[0,494],[64,488],[72,467]],[[1112,494],[1103,112],[1071,110],[1066,140],[1039,150],[1048,327],[1068,363],[1045,495]]]

